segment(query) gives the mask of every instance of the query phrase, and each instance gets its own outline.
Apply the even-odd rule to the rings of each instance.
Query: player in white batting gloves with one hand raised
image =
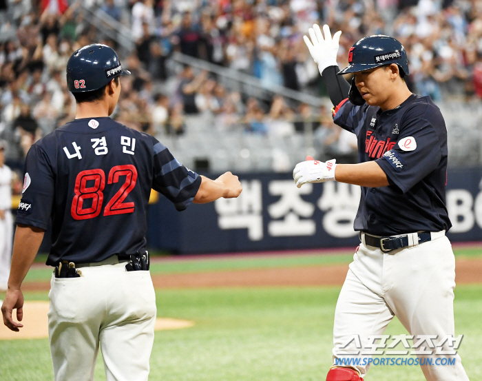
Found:
[[[428,96],[412,94],[404,77],[404,47],[387,36],[361,39],[339,70],[339,35],[324,25],[304,37],[328,87],[337,125],[356,134],[359,164],[337,165],[306,158],[296,165],[297,187],[339,181],[360,185],[355,230],[362,243],[339,294],[333,328],[333,365],[327,381],[358,381],[366,375],[373,335],[397,316],[410,335],[432,335],[438,344],[454,335],[455,265],[445,233],[447,130]],[[342,75],[353,73],[349,84]],[[371,336],[371,338],[369,338]],[[434,338],[436,336],[437,338]],[[360,345],[352,338],[359,338]],[[370,341],[371,340],[371,341]],[[348,343],[348,344],[347,344]],[[387,342],[390,344],[390,342]],[[427,380],[468,380],[458,355],[432,355],[417,348]],[[448,342],[443,351],[450,351]],[[454,365],[437,366],[450,358]],[[337,360],[345,359],[346,362]],[[350,360],[352,360],[350,362]]]

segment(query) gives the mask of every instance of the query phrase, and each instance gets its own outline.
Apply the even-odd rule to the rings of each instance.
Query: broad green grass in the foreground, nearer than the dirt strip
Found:
[[[151,381],[319,381],[331,365],[339,287],[157,291],[158,317],[194,320],[156,332]],[[45,292],[27,300],[47,300]],[[482,378],[482,285],[456,289],[459,353],[471,380]],[[388,334],[405,333],[398,320]],[[0,380],[52,380],[48,340],[0,341]],[[99,356],[96,380],[105,380]],[[372,367],[366,381],[423,381],[418,367]]]

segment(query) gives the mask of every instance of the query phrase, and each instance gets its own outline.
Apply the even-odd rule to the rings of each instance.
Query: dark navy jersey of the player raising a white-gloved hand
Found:
[[[362,187],[355,230],[376,236],[448,230],[447,128],[430,96],[412,94],[393,110],[348,99],[333,120],[358,138],[360,163],[376,161],[388,187]]]

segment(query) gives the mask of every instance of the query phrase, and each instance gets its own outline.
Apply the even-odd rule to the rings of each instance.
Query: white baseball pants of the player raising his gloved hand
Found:
[[[381,335],[394,315],[410,335],[437,335],[439,340],[454,335],[454,287],[455,259],[443,231],[432,233],[432,240],[426,243],[389,253],[365,245],[362,234],[335,310],[333,365],[336,358],[370,357],[345,356],[348,351],[357,350],[354,341],[344,350],[339,347],[353,335],[358,335],[365,347],[368,336]],[[439,340],[434,340],[434,344]],[[458,354],[424,357],[432,358],[432,365],[420,358],[425,363],[421,369],[428,381],[468,381]],[[443,357],[455,358],[455,365],[435,365],[435,360]],[[353,368],[363,377],[369,364],[360,362]]]

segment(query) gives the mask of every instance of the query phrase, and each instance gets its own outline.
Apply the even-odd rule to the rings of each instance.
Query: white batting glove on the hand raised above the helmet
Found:
[[[337,65],[339,36],[342,34],[342,31],[339,30],[332,38],[330,27],[328,25],[323,25],[323,32],[325,34],[324,38],[319,26],[313,24],[313,28],[308,29],[311,41],[308,37],[303,36],[304,43],[308,46],[308,50],[310,51],[313,60],[315,60],[318,65],[319,74],[322,74],[323,70],[328,68],[328,66]]]

